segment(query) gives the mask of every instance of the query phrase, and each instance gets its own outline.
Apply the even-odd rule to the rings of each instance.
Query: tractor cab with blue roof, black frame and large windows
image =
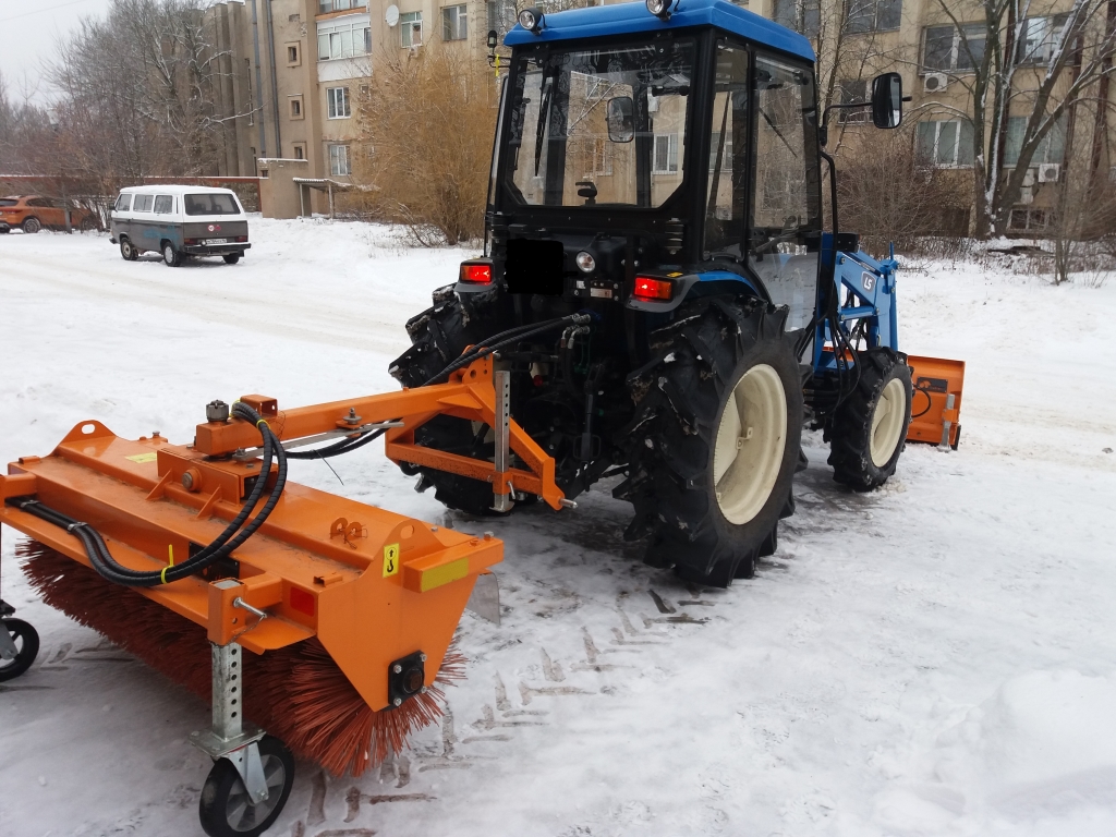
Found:
[[[612,318],[743,282],[789,308],[788,329],[810,324],[822,235],[806,38],[725,0],[650,0],[525,10],[506,45],[493,264],[459,291],[503,283]]]

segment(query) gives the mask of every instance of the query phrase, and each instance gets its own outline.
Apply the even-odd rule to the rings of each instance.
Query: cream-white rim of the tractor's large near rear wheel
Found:
[[[713,449],[716,503],[730,523],[760,513],[787,448],[787,392],[767,364],[745,372],[724,404]]]

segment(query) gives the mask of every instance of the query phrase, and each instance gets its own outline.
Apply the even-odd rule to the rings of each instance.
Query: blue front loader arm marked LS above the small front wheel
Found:
[[[850,336],[866,320],[863,329],[868,348],[886,346],[898,352],[898,320],[895,306],[896,273],[899,264],[892,248],[888,258],[877,261],[865,252],[847,253],[834,249],[834,237],[821,237],[821,281],[834,285],[837,294],[838,327]],[[814,373],[837,371],[831,325],[820,309],[824,295],[818,295],[818,324],[814,335]]]

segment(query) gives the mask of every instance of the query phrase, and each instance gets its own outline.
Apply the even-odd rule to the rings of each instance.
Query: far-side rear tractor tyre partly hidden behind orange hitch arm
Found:
[[[406,328],[412,346],[388,367],[392,376],[404,386],[421,386],[461,357],[468,346],[498,330],[496,327],[491,331],[482,330],[478,318],[469,316],[453,295],[452,286],[434,291],[434,305],[412,317]],[[496,446],[490,435],[491,427],[487,424],[474,427],[463,419],[440,415],[415,431],[415,444],[473,459],[492,459]],[[402,470],[408,475],[421,474],[417,489],[425,491],[433,487],[437,501],[451,509],[477,516],[498,513],[492,511],[492,484],[489,482],[406,463]]]

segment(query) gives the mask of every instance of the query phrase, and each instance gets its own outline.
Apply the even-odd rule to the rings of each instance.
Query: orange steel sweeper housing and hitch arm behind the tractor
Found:
[[[396,461],[491,480],[496,493],[514,484],[561,508],[554,460],[514,422],[510,448],[529,470],[498,473],[491,462],[414,444],[414,429],[436,415],[493,425],[492,374],[484,358],[442,385],[289,411],[260,396],[243,401],[282,440],[355,431],[354,417],[359,424],[401,421],[387,433]],[[259,459],[228,455],[259,443],[259,431],[241,420],[198,425],[192,445],[158,435],[125,440],[83,422],[50,455],[11,463],[0,475],[0,503],[35,497],[96,528],[121,564],[157,570],[211,542],[240,511],[253,480],[275,479],[275,465],[261,475]],[[89,566],[65,529],[11,504],[0,504],[0,522]],[[503,545],[288,482],[271,516],[232,557],[240,584],[231,588],[192,576],[135,589],[205,626],[219,645],[235,641],[264,653],[317,636],[368,705],[379,709],[393,660],[422,650],[426,684],[433,683],[478,575],[502,560]],[[268,618],[257,622],[234,607],[237,597]]]

